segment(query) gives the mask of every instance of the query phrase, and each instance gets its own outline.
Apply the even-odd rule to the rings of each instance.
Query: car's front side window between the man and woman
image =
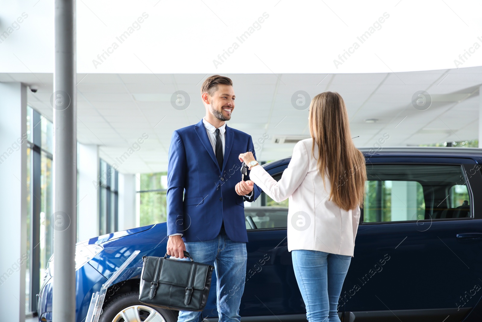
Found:
[[[281,173],[273,176],[279,181]],[[288,199],[276,202],[265,192],[261,193],[261,207],[245,207],[244,216],[246,229],[286,228],[288,218]]]

